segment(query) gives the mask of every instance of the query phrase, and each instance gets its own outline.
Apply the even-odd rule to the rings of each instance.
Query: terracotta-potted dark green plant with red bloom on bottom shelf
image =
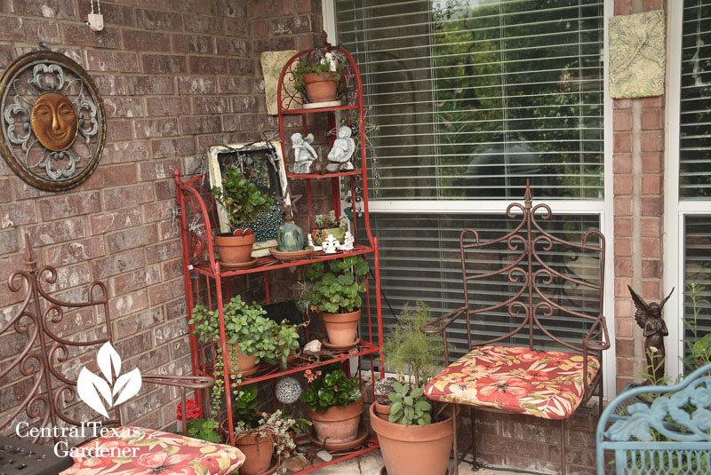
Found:
[[[363,415],[363,394],[357,379],[350,379],[341,368],[332,365],[304,376],[309,384],[301,394],[308,417],[314,423],[316,439],[342,444],[358,438],[358,425]]]

